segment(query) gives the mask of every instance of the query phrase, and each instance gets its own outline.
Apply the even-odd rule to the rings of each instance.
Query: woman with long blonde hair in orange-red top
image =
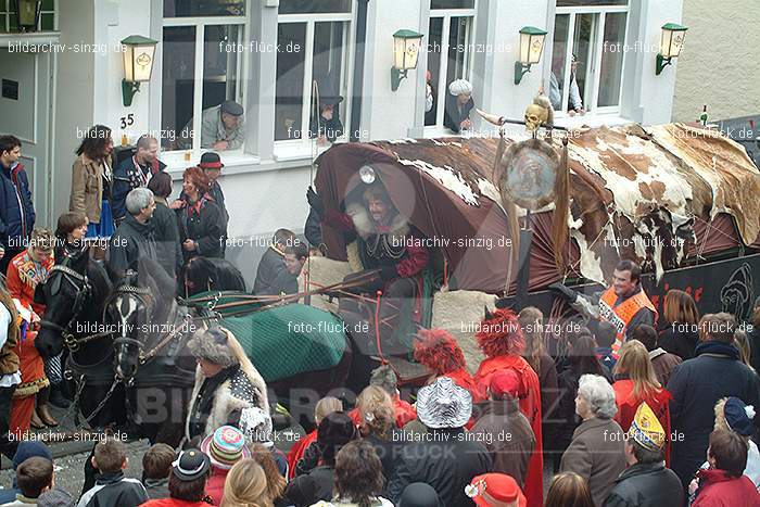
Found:
[[[655,375],[649,352],[638,340],[629,340],[620,348],[620,359],[612,370],[615,375],[615,401],[618,405],[618,421],[623,431],[629,431],[638,405],[646,402],[670,435],[671,395],[662,388]],[[670,442],[666,447],[666,462],[670,462]]]

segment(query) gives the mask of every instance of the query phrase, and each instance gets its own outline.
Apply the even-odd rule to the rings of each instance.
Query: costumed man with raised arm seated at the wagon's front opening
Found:
[[[359,257],[367,270],[351,275],[345,281],[371,278],[357,290],[382,292],[378,314],[381,352],[394,356],[407,354],[409,347],[398,341],[396,326],[404,302],[422,293],[422,271],[430,252],[421,245],[421,232],[398,212],[381,183],[369,186],[363,193],[363,203],[349,203],[345,213],[325,210],[321,199],[311,188],[306,198],[327,225],[357,235]],[[413,320],[419,322],[419,299],[415,299],[414,305]]]

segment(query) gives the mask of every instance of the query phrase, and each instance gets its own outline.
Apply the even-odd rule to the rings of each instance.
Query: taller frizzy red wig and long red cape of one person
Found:
[[[474,376],[479,401],[487,400],[491,377],[496,371],[515,370],[522,381],[519,390],[520,411],[525,416],[535,434],[535,449],[528,466],[524,493],[529,507],[542,507],[544,505],[544,459],[541,433],[541,385],[539,376],[520,355],[525,341],[517,316],[510,309],[496,309],[493,314],[486,312],[476,338],[486,356]]]

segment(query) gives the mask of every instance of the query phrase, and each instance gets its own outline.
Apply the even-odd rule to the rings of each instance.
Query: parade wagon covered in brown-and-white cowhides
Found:
[[[430,325],[459,339],[471,368],[480,357],[472,335],[484,303],[532,305],[557,317],[563,303],[548,284],[597,291],[620,258],[642,265],[644,288],[659,310],[668,290],[682,289],[701,313],[750,317],[760,294],[760,172],[744,148],[684,124],[556,134],[543,144],[561,161],[556,178],[566,170],[566,189],[542,181],[553,175],[542,173],[541,162],[533,181],[509,173],[510,147],[530,140],[519,131],[501,139],[339,144],[316,161],[315,187],[339,211],[370,179],[387,187],[434,252],[439,283]],[[517,204],[542,191],[552,199],[541,207]],[[309,261],[304,290],[362,269],[351,237],[329,226],[322,232],[327,258]]]

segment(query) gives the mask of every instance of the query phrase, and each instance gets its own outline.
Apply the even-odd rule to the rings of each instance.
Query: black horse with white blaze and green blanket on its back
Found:
[[[233,331],[241,344],[266,342],[266,340],[263,340],[265,334],[261,332],[263,330],[262,326],[264,326],[263,321],[270,326],[269,329],[277,329],[279,332],[291,329],[291,326],[295,330],[299,326],[308,325],[299,321],[297,318],[289,321],[287,317],[289,314],[303,315],[308,313],[314,315],[314,313],[318,313],[318,316],[326,319],[337,320],[337,317],[327,312],[304,305],[291,304],[264,307],[252,314],[252,318],[255,321],[245,328],[250,330],[250,333],[243,335],[241,329],[245,327],[244,317],[221,318],[213,309],[211,312],[208,309],[190,310],[187,306],[177,304],[173,300],[172,287],[151,282],[151,278],[156,272],[160,272],[159,270],[161,269],[156,263],[145,259],[141,263],[139,269],[143,272],[137,277],[137,287],[121,293],[118,297],[109,303],[110,307],[106,309],[106,313],[112,318],[124,322],[124,326],[121,327],[122,333],[115,340],[115,355],[117,375],[122,376],[127,383],[132,378],[139,378],[141,369],[144,367],[145,362],[140,359],[140,351],[142,351],[142,356],[144,357],[145,351],[154,350],[159,343],[167,340],[168,344],[165,345],[167,351],[169,346],[174,346],[178,351],[176,353],[180,356],[186,356],[186,350],[181,344],[187,342],[189,335],[197,327],[210,326],[214,320]],[[148,296],[149,293],[152,296]],[[160,303],[165,302],[168,302],[165,308],[157,307]],[[150,318],[153,326],[175,330],[175,334],[170,339],[166,335],[160,340],[160,337],[154,334],[138,332],[140,328],[135,322],[140,322],[141,319],[148,318]],[[257,330],[258,333],[256,333]],[[329,368],[296,371],[286,378],[267,378],[266,371],[270,370],[273,365],[289,364],[293,366],[291,359],[295,354],[294,348],[299,348],[297,344],[288,347],[287,342],[278,341],[267,350],[266,357],[251,357],[251,352],[246,351],[251,362],[267,381],[269,400],[289,408],[291,417],[305,429],[314,428],[314,406],[319,398],[328,393],[332,395],[344,394],[345,380],[351,368],[352,342],[351,338],[346,335],[342,324],[340,333],[343,352],[338,364]],[[316,333],[309,337],[303,337],[295,332],[292,335],[290,333],[278,335],[287,335],[288,338],[293,338],[293,340],[302,337],[305,341],[301,342],[300,348],[306,350],[309,346],[318,345],[318,339],[324,338],[325,333]],[[331,335],[333,339],[335,337],[337,334]],[[188,378],[192,378],[192,376],[188,376]],[[187,405],[182,405],[182,408],[186,409]],[[182,417],[187,417],[187,414],[183,414]]]

